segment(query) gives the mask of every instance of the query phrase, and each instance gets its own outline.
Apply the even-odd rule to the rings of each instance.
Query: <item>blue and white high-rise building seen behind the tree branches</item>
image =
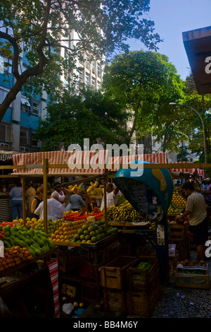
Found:
[[[1,24],[1,21],[0,29],[3,32],[8,32],[8,29]],[[70,40],[77,40],[75,33],[75,31],[71,32]],[[74,42],[71,42],[71,45],[67,46],[71,49],[74,46]],[[62,57],[68,57],[68,52],[71,52],[71,50],[67,51],[67,48],[61,48],[60,52]],[[27,65],[25,55],[25,52],[20,54],[20,71],[24,71]],[[75,69],[75,73],[77,73],[78,83],[84,83],[98,90],[101,88],[103,66],[101,61],[91,59],[90,56],[91,54],[84,52],[83,61],[76,59],[76,66],[79,67],[79,70]],[[0,55],[0,103],[4,100],[15,81],[12,66],[5,66],[6,61],[9,61],[12,65],[11,59],[4,59]],[[64,84],[68,83],[68,75],[70,73],[64,72],[60,76],[60,80]],[[77,90],[75,90],[75,93],[77,93]],[[30,97],[18,93],[0,123],[0,148],[15,150],[21,153],[39,151],[41,142],[35,140],[33,134],[39,126],[40,119],[45,117],[47,103],[48,96],[44,91],[40,95],[31,95]]]

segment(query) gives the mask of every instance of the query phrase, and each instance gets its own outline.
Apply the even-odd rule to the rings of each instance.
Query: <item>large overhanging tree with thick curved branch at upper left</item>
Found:
[[[38,93],[44,87],[55,97],[60,73],[70,71],[82,52],[103,59],[115,50],[127,51],[130,37],[157,49],[160,37],[154,33],[154,23],[143,18],[149,5],[150,0],[1,0],[1,28],[10,30],[0,31],[0,54],[13,61],[15,84],[0,105],[0,121],[23,88],[26,93]],[[67,57],[60,57],[61,48]],[[27,69],[20,72],[22,52]]]

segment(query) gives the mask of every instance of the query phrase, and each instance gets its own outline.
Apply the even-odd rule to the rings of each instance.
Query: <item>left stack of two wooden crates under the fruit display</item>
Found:
[[[136,257],[118,256],[101,267],[103,286],[103,304],[106,312],[127,312],[126,291],[127,269],[136,261]]]

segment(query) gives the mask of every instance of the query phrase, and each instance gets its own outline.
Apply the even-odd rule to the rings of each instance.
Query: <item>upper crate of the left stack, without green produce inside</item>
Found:
[[[136,257],[118,256],[101,267],[101,283],[103,287],[121,290],[126,285],[126,271],[136,261]]]

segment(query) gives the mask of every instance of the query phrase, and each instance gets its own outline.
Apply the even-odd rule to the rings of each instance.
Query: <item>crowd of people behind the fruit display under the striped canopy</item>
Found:
[[[92,192],[93,205],[103,210],[103,181]],[[2,190],[4,188],[4,190]],[[2,194],[8,195],[11,201],[13,220],[23,218],[23,188],[20,180],[13,182],[8,188],[1,187]],[[107,206],[117,203],[118,189],[113,184],[106,184]],[[70,196],[70,198],[68,198]],[[44,218],[44,188],[42,184],[29,182],[25,188],[25,211],[29,218]],[[69,201],[68,201],[69,199]],[[63,218],[64,212],[68,210],[82,211],[86,208],[82,195],[75,191],[60,186],[56,183],[47,186],[47,218],[56,220]]]

